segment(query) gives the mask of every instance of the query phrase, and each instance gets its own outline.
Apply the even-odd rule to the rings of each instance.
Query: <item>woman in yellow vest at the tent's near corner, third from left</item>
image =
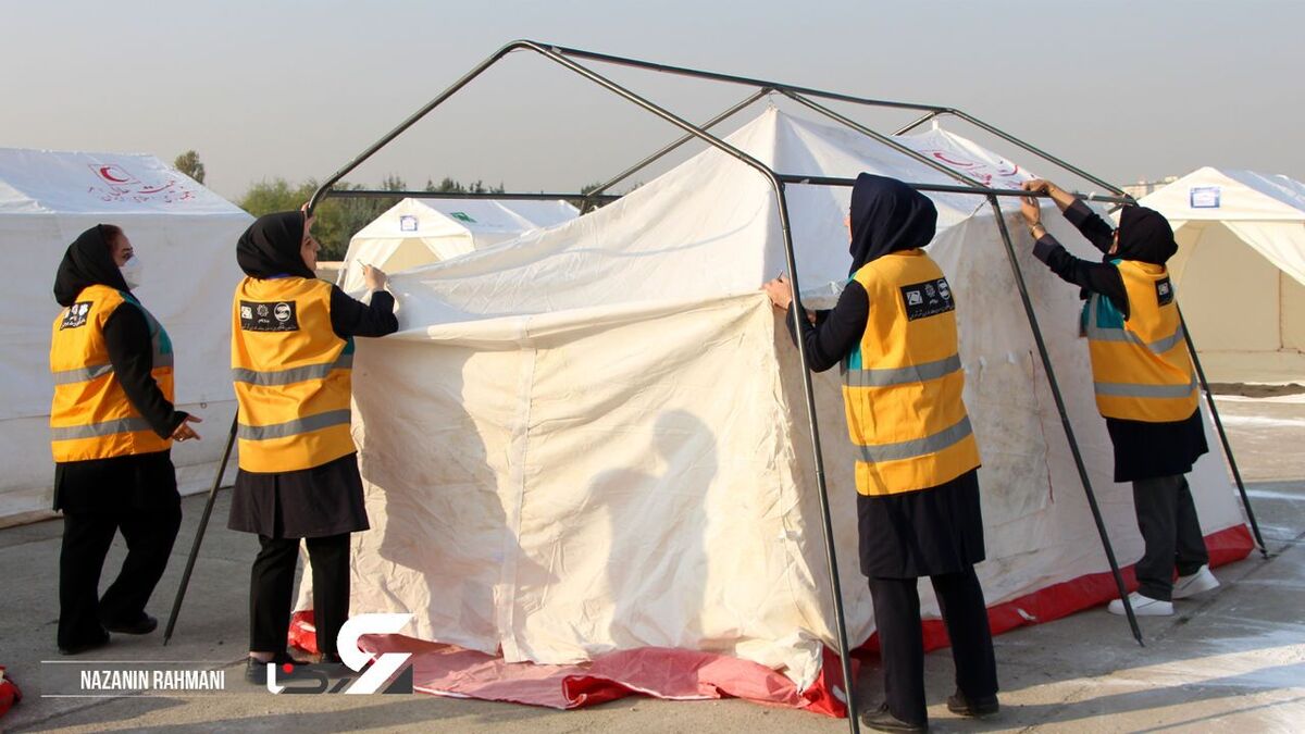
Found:
[[[861,572],[869,577],[886,701],[864,724],[923,731],[919,577],[928,576],[951,637],[957,691],[947,708],[996,713],[997,663],[983,588],[979,449],[960,393],[955,294],[921,249],[933,202],[904,183],[861,174],[852,188],[851,278],[833,311],[803,320],[812,370],[842,363],[855,468]],[[766,283],[791,308],[788,283]],[[813,323],[812,323],[813,321]],[[790,313],[792,329],[792,313]]]

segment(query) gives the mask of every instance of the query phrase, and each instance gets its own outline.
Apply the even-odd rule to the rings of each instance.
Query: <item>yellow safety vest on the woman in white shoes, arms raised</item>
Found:
[[[1083,304],[1096,407],[1107,418],[1168,423],[1197,410],[1197,377],[1164,265],[1116,260],[1129,317],[1094,293]]]

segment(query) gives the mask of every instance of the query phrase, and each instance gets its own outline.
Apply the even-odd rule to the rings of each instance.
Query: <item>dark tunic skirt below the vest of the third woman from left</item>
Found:
[[[856,496],[861,573],[919,579],[957,573],[981,562],[979,470],[900,495]]]

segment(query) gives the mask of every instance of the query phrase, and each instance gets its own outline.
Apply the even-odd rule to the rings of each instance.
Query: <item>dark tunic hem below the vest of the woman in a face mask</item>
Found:
[[[55,509],[114,513],[180,507],[171,451],[55,464]]]

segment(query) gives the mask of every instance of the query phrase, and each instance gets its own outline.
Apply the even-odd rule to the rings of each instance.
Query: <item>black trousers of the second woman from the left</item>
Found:
[[[290,605],[299,538],[258,535],[262,546],[249,573],[249,649],[282,653],[290,633]],[[348,533],[307,538],[313,573],[313,627],[324,660],[335,656],[335,636],[348,618]]]

